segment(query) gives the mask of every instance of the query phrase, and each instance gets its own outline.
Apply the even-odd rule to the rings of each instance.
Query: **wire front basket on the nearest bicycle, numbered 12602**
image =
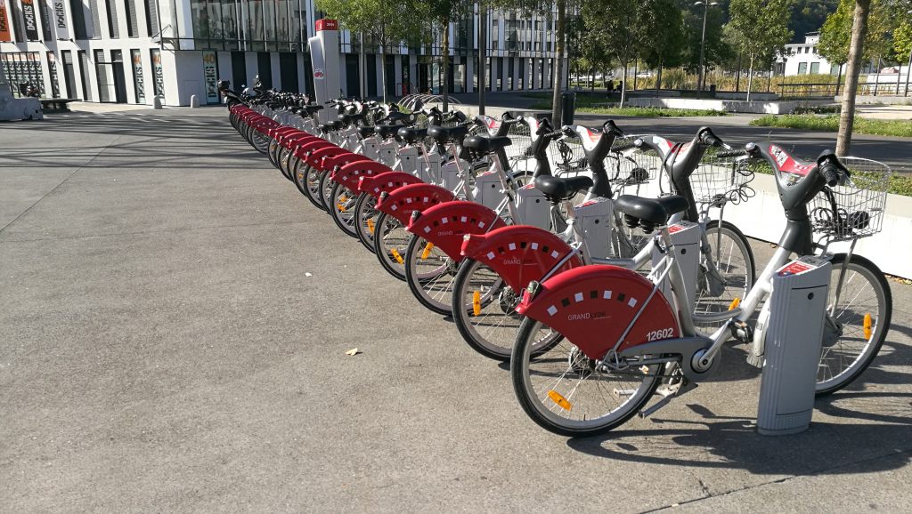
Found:
[[[849,179],[826,186],[808,204],[814,232],[831,242],[851,241],[872,236],[884,226],[886,192],[890,168],[876,160],[839,158]]]

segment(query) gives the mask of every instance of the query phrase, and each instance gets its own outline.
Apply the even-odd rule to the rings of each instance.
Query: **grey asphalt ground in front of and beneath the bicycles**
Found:
[[[906,285],[876,364],[801,435],[756,433],[732,346],[653,417],[567,440],[223,109],[0,124],[0,147],[5,511],[912,504]]]

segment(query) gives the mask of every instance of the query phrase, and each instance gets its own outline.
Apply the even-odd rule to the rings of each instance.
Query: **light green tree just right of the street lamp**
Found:
[[[794,0],[731,0],[729,24],[738,45],[750,60],[748,101],[751,101],[754,68],[772,67],[776,55],[792,40],[789,15],[793,3]]]

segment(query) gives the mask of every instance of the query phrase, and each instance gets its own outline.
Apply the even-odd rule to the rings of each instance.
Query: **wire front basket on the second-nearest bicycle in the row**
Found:
[[[726,202],[737,204],[754,196],[751,180],[756,161],[745,157],[719,157],[707,151],[700,165],[690,175],[690,186],[698,203],[720,207]]]

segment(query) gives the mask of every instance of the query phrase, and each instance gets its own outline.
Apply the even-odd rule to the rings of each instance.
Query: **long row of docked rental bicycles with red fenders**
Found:
[[[731,341],[762,367],[782,315],[772,277],[793,255],[832,264],[817,395],[855,381],[889,329],[884,273],[854,252],[883,225],[889,170],[876,161],[732,149],[711,128],[672,141],[612,121],[558,128],[275,92],[234,98],[230,118],[466,344],[509,361],[523,410],[558,434],[648,416],[710,377]],[[724,213],[751,201],[761,172],[782,203],[763,215],[785,229],[758,269]]]

